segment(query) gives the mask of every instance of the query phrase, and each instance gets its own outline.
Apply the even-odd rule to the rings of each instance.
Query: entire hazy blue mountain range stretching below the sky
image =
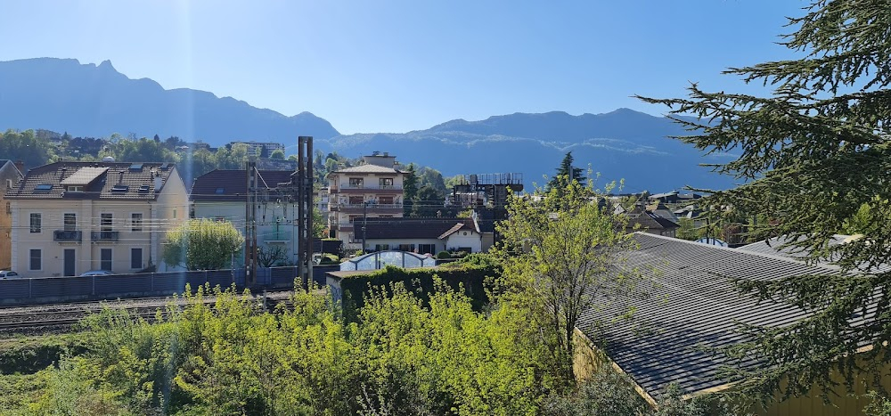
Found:
[[[515,113],[479,121],[455,119],[408,133],[339,135],[327,120],[302,112],[287,117],[231,97],[192,89],[165,90],[151,79],[130,79],[110,61],[39,58],[0,62],[0,128],[45,128],[71,135],[111,133],[221,145],[233,140],[290,143],[315,137],[315,149],[358,157],[389,151],[398,160],[434,167],[443,175],[521,173],[527,186],[544,184],[567,151],[578,167],[601,174],[598,184],[625,180],[625,192],[662,192],[684,185],[725,189],[704,157],[680,141],[687,132],[667,118],[619,109],[573,116],[562,111]],[[4,155],[0,155],[3,158]]]

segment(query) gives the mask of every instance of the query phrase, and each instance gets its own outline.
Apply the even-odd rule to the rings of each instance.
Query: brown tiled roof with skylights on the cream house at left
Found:
[[[7,194],[12,200],[154,200],[156,193],[167,184],[176,167],[172,163],[141,163],[138,169],[127,162],[56,162],[28,171],[19,184]],[[85,172],[98,172],[86,185],[84,192],[65,192],[66,179]],[[86,176],[85,176],[86,177]],[[156,188],[155,179],[159,179]],[[75,182],[84,182],[76,180]]]

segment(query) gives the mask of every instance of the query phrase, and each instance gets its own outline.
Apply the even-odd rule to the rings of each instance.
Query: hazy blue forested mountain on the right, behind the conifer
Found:
[[[731,177],[699,167],[725,161],[726,155],[703,158],[690,145],[666,138],[685,133],[667,118],[633,110],[581,116],[555,111],[452,120],[405,134],[341,135],[319,146],[350,156],[389,151],[443,175],[522,173],[527,185],[544,184],[543,175],[553,175],[563,155],[572,151],[576,166],[590,164],[601,173],[600,184],[625,179],[626,192],[731,187]]]

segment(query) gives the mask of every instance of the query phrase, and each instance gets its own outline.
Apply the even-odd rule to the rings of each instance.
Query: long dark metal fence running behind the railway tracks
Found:
[[[315,266],[313,281],[325,284],[325,273],[338,265]],[[297,267],[259,267],[252,289],[293,289]],[[244,269],[168,273],[112,274],[86,277],[37,277],[0,280],[0,305],[29,305],[78,300],[140,298],[183,293],[205,283],[223,288],[245,287]]]

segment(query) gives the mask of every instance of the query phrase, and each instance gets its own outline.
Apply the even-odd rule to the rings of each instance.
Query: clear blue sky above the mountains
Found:
[[[664,109],[688,82],[794,57],[774,42],[798,0],[0,2],[0,61],[110,60],[131,78],[232,96],[341,133],[513,112]]]

